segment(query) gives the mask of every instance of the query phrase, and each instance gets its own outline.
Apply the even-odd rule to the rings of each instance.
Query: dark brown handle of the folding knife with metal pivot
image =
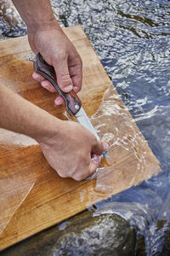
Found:
[[[39,73],[44,79],[47,79],[51,84],[54,85],[54,88],[58,91],[59,96],[61,96],[65,101],[65,108],[67,112],[71,116],[75,115],[82,107],[81,100],[74,90],[71,90],[68,93],[60,90],[56,81],[54,67],[48,65],[48,63],[42,59],[42,55],[40,53],[36,55],[36,60],[34,61],[34,69],[36,73]]]

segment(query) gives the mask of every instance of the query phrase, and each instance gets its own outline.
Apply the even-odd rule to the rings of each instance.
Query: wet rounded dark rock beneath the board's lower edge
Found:
[[[85,217],[62,232],[50,255],[134,255],[136,235],[116,214]]]

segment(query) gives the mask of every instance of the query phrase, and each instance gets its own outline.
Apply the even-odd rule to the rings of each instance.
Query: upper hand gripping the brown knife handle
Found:
[[[57,22],[53,26],[49,26],[48,30],[38,29],[36,32],[28,32],[28,39],[34,53],[40,52],[43,59],[54,67],[57,83],[61,90],[65,92],[72,89],[76,92],[81,90],[82,60],[77,49],[62,32]],[[33,73],[32,77],[39,81],[42,87],[56,92],[54,86],[43,79],[41,75]],[[58,96],[54,102],[56,105],[60,105],[64,103],[64,100]]]

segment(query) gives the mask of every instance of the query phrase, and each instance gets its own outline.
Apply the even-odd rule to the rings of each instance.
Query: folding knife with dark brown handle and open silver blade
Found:
[[[56,75],[54,72],[54,67],[48,65],[46,61],[43,60],[42,55],[38,53],[35,58],[30,58],[30,61],[34,61],[34,69],[36,73],[42,75],[44,79],[47,79],[51,84],[54,85],[54,88],[58,91],[59,96],[61,96],[65,101],[65,108],[71,116],[76,116],[77,121],[91,131],[94,136],[99,140],[99,136],[94,129],[94,126],[88,119],[88,115],[82,108],[82,102],[77,96],[77,93],[74,90],[71,90],[68,93],[60,90],[59,85],[56,82]],[[109,158],[108,154],[105,152],[103,154],[106,158]]]

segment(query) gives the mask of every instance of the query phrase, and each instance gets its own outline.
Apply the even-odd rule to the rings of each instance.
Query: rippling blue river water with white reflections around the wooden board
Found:
[[[82,25],[163,171],[96,204],[94,215],[121,214],[144,236],[146,255],[161,255],[170,223],[170,2],[51,2],[61,26]],[[1,14],[1,39],[26,34],[10,7]]]

